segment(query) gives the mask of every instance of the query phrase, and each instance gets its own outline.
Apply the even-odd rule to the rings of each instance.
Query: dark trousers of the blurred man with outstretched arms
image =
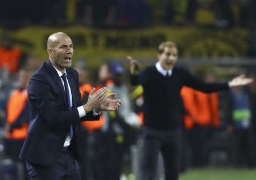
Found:
[[[159,131],[144,127],[141,180],[154,180],[159,152],[161,152],[163,156],[164,179],[179,179],[181,135],[181,129]]]

